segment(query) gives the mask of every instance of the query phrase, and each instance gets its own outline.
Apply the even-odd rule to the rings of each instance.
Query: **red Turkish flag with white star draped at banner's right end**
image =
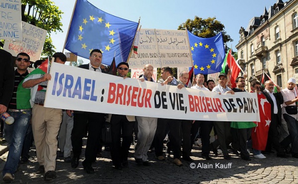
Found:
[[[258,93],[260,122],[254,122],[256,127],[252,128],[252,147],[257,150],[265,150],[269,126],[271,122],[271,105],[262,93]]]

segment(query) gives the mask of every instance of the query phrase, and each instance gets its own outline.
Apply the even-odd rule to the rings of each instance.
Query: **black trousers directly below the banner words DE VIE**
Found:
[[[171,142],[171,147],[173,150],[174,158],[180,158],[181,151],[181,137],[180,137],[180,129],[181,129],[181,121],[176,119],[164,119],[158,118],[157,120],[157,128],[154,136],[155,141],[155,155],[162,156],[163,150],[163,140],[166,135],[167,127],[170,130],[169,140]]]

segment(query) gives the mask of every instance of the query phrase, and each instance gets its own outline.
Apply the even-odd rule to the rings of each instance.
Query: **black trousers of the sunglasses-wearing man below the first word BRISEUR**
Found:
[[[130,145],[133,141],[135,122],[128,121],[125,115],[113,114],[111,117],[111,157],[114,166],[127,162]],[[121,142],[122,137],[122,142]]]

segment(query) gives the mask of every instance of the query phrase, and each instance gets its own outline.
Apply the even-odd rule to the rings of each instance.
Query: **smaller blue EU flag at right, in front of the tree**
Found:
[[[225,56],[222,33],[212,38],[200,38],[187,32],[195,75],[220,72]]]

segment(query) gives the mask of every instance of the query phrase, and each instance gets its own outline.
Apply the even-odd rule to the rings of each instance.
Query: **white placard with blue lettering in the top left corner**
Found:
[[[22,40],[21,0],[0,0],[0,39]]]

